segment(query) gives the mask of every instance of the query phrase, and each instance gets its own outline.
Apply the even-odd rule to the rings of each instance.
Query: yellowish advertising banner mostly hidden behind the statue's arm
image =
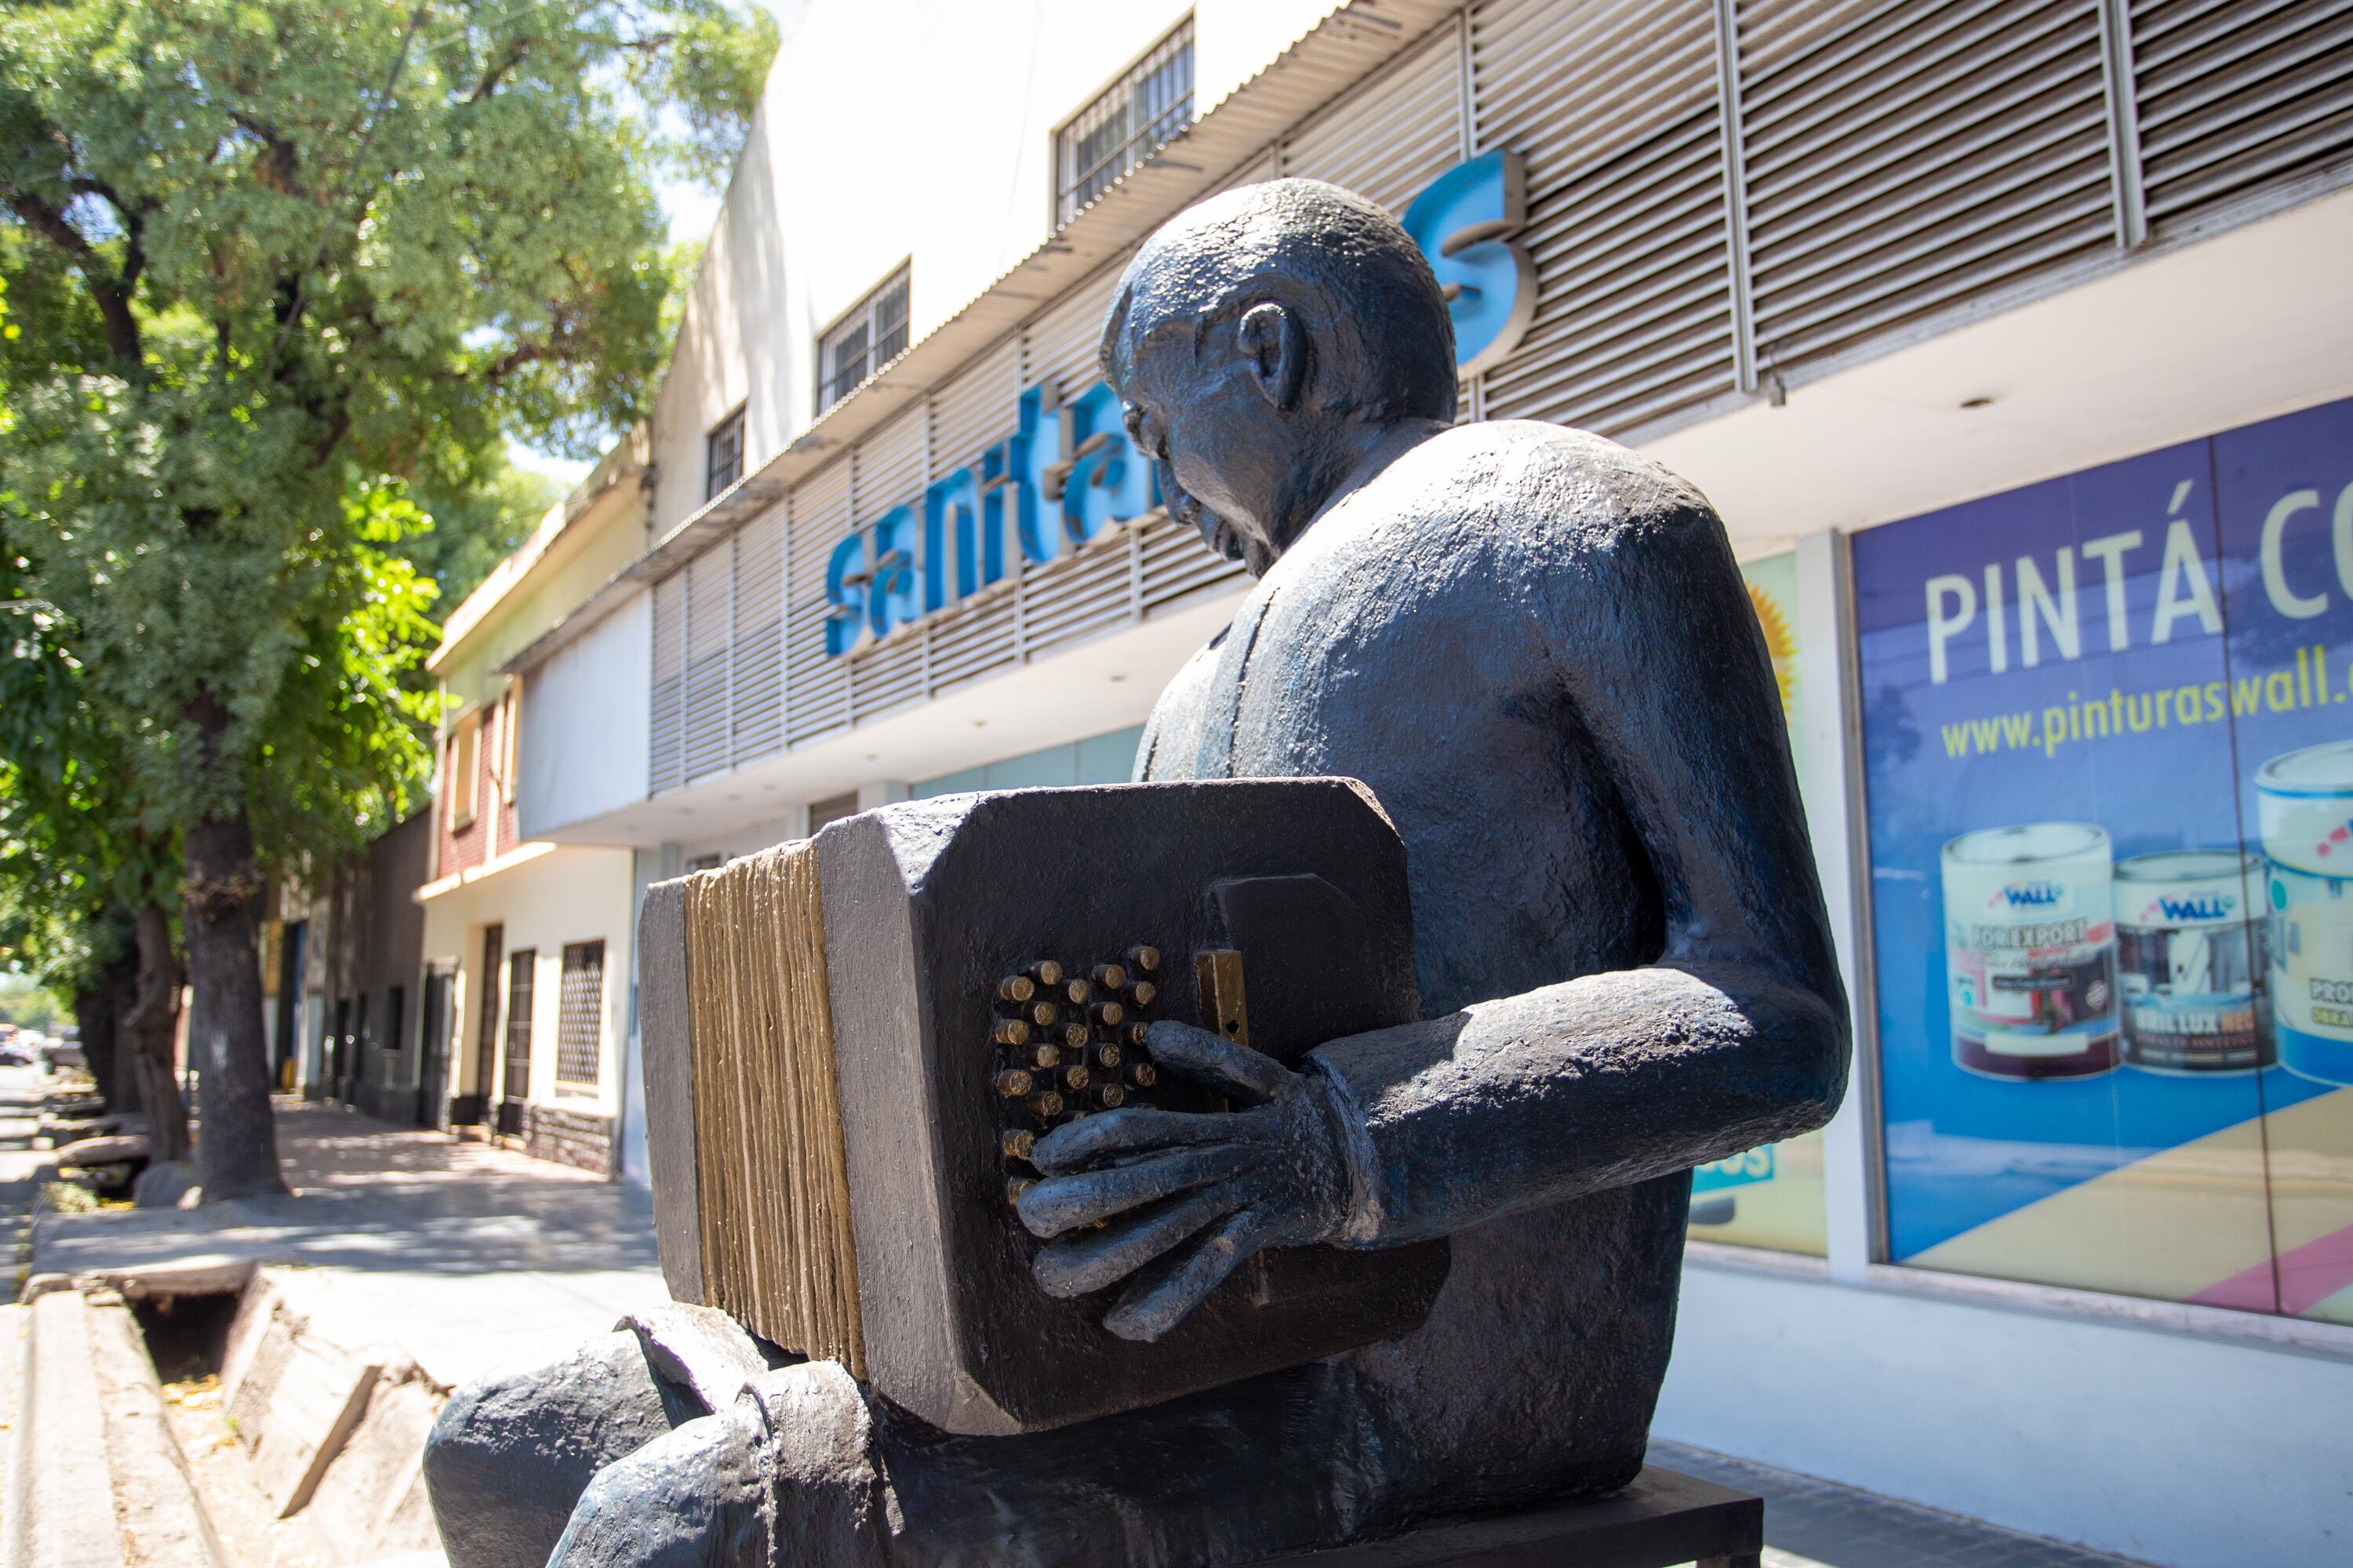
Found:
[[[1765,651],[1772,654],[1774,679],[1781,686],[1781,717],[1800,733],[1805,691],[1798,686],[1798,557],[1791,552],[1744,562],[1748,602],[1765,628]],[[1828,1220],[1821,1204],[1821,1133],[1802,1133],[1786,1143],[1748,1150],[1692,1171],[1694,1241],[1732,1246],[1767,1246],[1784,1253],[1828,1251]]]

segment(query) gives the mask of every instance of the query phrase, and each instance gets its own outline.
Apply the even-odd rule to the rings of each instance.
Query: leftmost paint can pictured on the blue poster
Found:
[[[1953,1063],[2080,1079],[2118,1060],[2113,851],[2092,823],[2024,823],[1944,846]]]

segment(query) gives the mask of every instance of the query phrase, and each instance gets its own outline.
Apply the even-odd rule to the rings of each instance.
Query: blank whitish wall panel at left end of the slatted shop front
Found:
[[[652,597],[633,595],[522,686],[515,809],[525,839],[645,799]]]

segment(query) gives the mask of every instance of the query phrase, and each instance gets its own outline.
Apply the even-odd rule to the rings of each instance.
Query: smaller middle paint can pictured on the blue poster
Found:
[[[2271,1063],[2261,889],[2264,856],[2235,849],[2118,863],[2115,985],[2127,1063],[2153,1072]]]

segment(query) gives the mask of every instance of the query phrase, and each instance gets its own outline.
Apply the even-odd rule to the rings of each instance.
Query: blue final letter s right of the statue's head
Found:
[[[1447,292],[1464,376],[1518,348],[1537,315],[1537,263],[1506,237],[1525,223],[1527,165],[1501,148],[1454,165],[1405,209],[1405,233]]]

